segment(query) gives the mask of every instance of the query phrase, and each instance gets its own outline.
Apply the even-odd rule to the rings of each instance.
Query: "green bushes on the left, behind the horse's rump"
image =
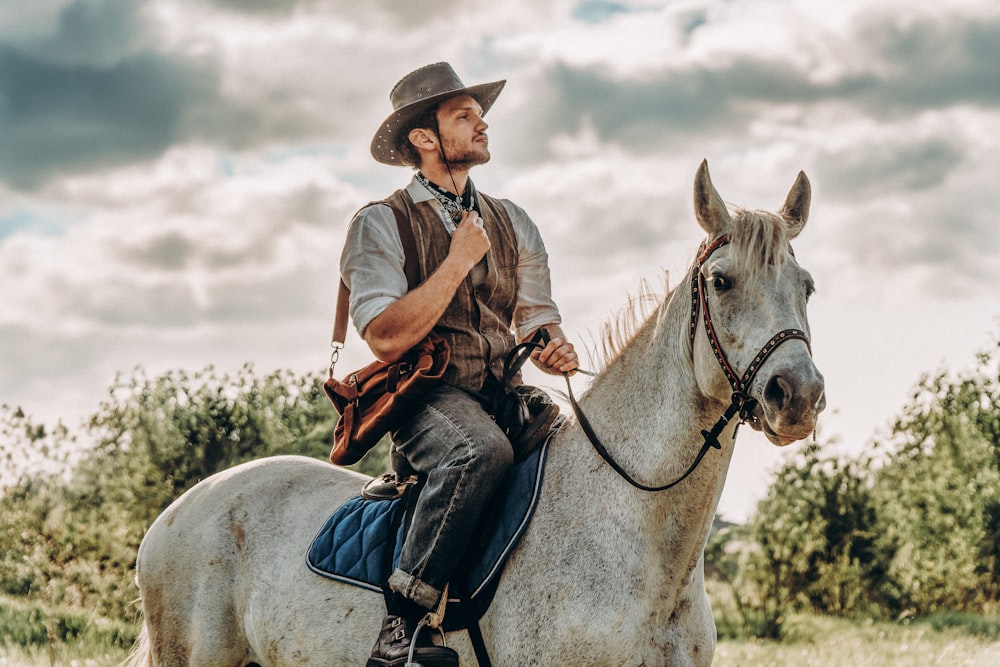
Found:
[[[251,367],[235,375],[208,368],[152,379],[136,370],[114,383],[75,439],[8,411],[8,449],[35,447],[60,433],[91,444],[71,471],[25,474],[0,498],[4,590],[123,616],[136,597],[139,542],[169,503],[250,459],[325,459],[336,417],[318,379],[286,371],[261,377]],[[24,435],[15,440],[8,432]],[[65,449],[54,441],[53,452]]]

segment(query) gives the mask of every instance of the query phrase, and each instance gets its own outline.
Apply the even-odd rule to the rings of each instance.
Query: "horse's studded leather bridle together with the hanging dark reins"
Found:
[[[684,471],[684,474],[682,474],[680,477],[678,477],[672,482],[669,482],[667,484],[661,484],[658,486],[650,486],[648,484],[643,484],[642,482],[637,481],[631,474],[628,473],[628,471],[626,471],[621,466],[620,463],[618,463],[614,459],[614,457],[608,451],[607,447],[604,446],[604,443],[601,442],[601,439],[598,437],[597,432],[594,430],[594,427],[590,424],[590,420],[587,419],[587,416],[583,413],[583,410],[580,408],[580,404],[577,402],[576,397],[573,395],[573,386],[570,383],[569,374],[563,373],[563,377],[566,379],[566,389],[568,390],[570,405],[573,407],[573,413],[576,415],[576,419],[577,422],[580,424],[580,428],[582,428],[584,434],[586,434],[587,440],[590,441],[591,446],[593,446],[594,450],[600,455],[602,459],[604,459],[605,463],[611,466],[612,470],[614,470],[616,473],[618,473],[620,477],[622,477],[622,479],[624,479],[626,482],[628,482],[635,488],[639,489],[640,491],[649,491],[655,493],[657,491],[666,491],[667,489],[677,486],[685,479],[687,479],[691,475],[691,473],[693,473],[698,468],[698,465],[701,463],[702,459],[705,458],[705,454],[708,453],[708,450],[722,448],[722,445],[719,442],[719,436],[722,434],[723,429],[726,428],[726,426],[733,419],[733,417],[735,417],[738,414],[740,417],[740,423],[752,422],[756,419],[756,417],[754,417],[753,415],[753,408],[756,405],[756,401],[750,397],[748,392],[751,384],[753,384],[754,378],[757,377],[757,371],[760,370],[760,367],[764,364],[764,361],[767,360],[769,356],[771,356],[771,353],[773,353],[776,349],[778,349],[778,346],[780,346],[782,343],[786,341],[798,339],[805,341],[807,348],[810,347],[809,337],[806,335],[804,331],[802,331],[801,329],[785,329],[775,334],[771,338],[771,340],[769,340],[764,345],[764,347],[760,349],[760,351],[753,358],[753,361],[750,362],[750,365],[747,367],[746,371],[744,371],[742,376],[737,374],[737,372],[733,369],[732,365],[729,363],[729,360],[726,358],[725,352],[722,350],[722,345],[719,343],[719,338],[715,333],[715,327],[712,324],[712,316],[708,309],[708,299],[705,295],[705,276],[701,272],[702,266],[704,266],[705,262],[708,261],[708,258],[711,257],[712,253],[714,253],[716,250],[723,247],[724,245],[728,244],[729,242],[730,242],[730,237],[728,234],[726,234],[724,236],[719,237],[711,244],[703,244],[704,250],[698,257],[698,261],[694,267],[694,274],[691,278],[690,332],[691,332],[691,345],[693,349],[695,332],[697,331],[698,328],[698,311],[700,308],[701,310],[704,311],[705,335],[708,337],[708,342],[712,347],[712,351],[715,353],[715,358],[718,360],[719,366],[722,368],[723,374],[726,376],[726,379],[729,381],[729,385],[733,389],[733,395],[730,400],[729,407],[726,408],[722,416],[719,417],[718,421],[715,422],[715,425],[712,426],[711,430],[708,431],[702,430],[701,435],[705,439],[705,441],[702,444],[701,449],[698,450],[698,454],[695,456],[694,462],[686,471]],[[533,339],[532,341],[521,343],[521,345],[517,346],[517,348],[515,349],[521,351],[524,349],[544,347],[544,345],[548,343],[548,332],[545,332],[544,330],[542,331],[544,332],[542,336],[540,337],[536,336],[536,339]],[[810,354],[811,352],[812,351],[810,349]],[[521,363],[523,363],[523,360]],[[589,374],[590,373],[588,373],[588,375]]]

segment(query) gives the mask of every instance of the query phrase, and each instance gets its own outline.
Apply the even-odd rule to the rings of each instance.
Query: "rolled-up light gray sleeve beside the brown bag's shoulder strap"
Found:
[[[358,333],[406,294],[403,245],[396,218],[385,204],[361,209],[351,220],[340,256],[340,275],[351,290],[351,319]]]

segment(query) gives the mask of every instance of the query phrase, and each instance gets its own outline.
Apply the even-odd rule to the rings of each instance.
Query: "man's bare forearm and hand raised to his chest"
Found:
[[[364,331],[365,342],[382,361],[393,362],[419,343],[441,319],[455,291],[486,251],[490,240],[475,211],[462,214],[448,256],[427,280],[389,304]]]

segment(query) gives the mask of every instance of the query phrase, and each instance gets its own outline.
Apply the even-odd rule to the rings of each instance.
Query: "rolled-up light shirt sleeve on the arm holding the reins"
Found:
[[[561,324],[562,317],[552,300],[549,255],[538,227],[519,206],[504,199],[517,236],[517,304],[514,307],[514,330],[523,340],[545,324]]]

